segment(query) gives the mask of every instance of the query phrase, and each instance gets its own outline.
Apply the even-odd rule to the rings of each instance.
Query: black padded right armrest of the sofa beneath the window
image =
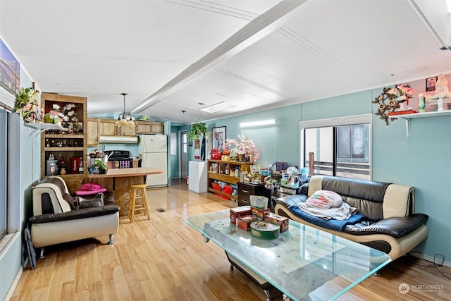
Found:
[[[427,219],[428,216],[426,214],[413,214],[406,217],[390,217],[376,223],[371,223],[369,226],[366,226],[364,223],[348,225],[345,228],[345,232],[353,235],[386,234],[395,238],[400,238],[414,232],[426,223]]]

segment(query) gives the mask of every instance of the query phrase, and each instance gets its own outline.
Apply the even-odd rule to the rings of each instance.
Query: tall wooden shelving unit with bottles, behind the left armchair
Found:
[[[35,123],[42,130],[41,133],[41,178],[49,176],[47,174],[47,161],[50,154],[54,155],[54,159],[58,160],[59,155],[63,156],[66,163],[66,174],[61,175],[58,170],[58,176],[61,176],[68,185],[68,190],[71,194],[75,190],[80,189],[80,185],[85,183],[87,175],[87,98],[75,97],[68,95],[59,95],[51,93],[41,94],[41,104],[44,112],[49,112],[54,104],[60,106],[60,111],[63,111],[67,104],[75,104],[75,108],[70,109],[74,111],[72,117],[78,118],[78,122],[72,120],[70,128],[62,128],[61,125],[51,125],[49,123]],[[38,125],[39,124],[39,125]],[[75,173],[71,158],[82,158],[83,173]]]

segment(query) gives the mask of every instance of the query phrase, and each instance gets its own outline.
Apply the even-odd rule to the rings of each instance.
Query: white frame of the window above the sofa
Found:
[[[373,121],[373,116],[371,114],[364,114],[364,115],[356,115],[356,116],[344,116],[344,117],[338,117],[338,118],[325,118],[325,119],[315,119],[311,121],[300,121],[299,122],[299,166],[301,167],[308,167],[305,165],[305,154],[304,154],[304,130],[308,128],[327,128],[327,127],[334,127],[334,126],[340,126],[340,125],[357,125],[362,123],[369,124],[369,178],[373,178],[373,164],[372,164],[372,155],[371,155],[371,149],[372,149],[372,130],[371,125]]]

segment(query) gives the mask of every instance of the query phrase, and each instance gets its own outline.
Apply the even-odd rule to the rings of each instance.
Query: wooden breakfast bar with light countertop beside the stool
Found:
[[[154,167],[111,168],[105,174],[89,173],[87,178],[89,183],[98,183],[107,190],[113,191],[116,203],[121,207],[120,216],[127,216],[130,185],[146,183],[148,175],[158,173],[163,171]]]

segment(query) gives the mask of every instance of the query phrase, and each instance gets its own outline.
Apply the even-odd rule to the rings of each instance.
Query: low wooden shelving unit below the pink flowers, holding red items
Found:
[[[207,161],[207,178],[206,185],[209,192],[214,192],[218,195],[224,195],[230,197],[230,199],[237,199],[236,195],[230,195],[226,192],[219,190],[214,190],[211,183],[215,181],[222,181],[225,183],[236,185],[240,182],[241,171],[249,171],[251,164],[249,162],[239,162],[239,161],[222,161],[222,160],[208,160]],[[235,176],[235,170],[238,169],[240,173]]]

